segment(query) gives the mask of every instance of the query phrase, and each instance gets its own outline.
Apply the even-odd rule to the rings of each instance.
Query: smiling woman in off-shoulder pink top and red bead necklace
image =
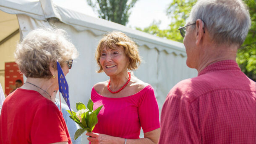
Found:
[[[141,60],[138,48],[119,31],[99,41],[96,60],[99,72],[110,80],[99,82],[91,91],[94,108],[103,105],[92,133],[86,133],[91,144],[157,144],[159,109],[151,85],[131,75]],[[144,138],[139,138],[141,127]]]

